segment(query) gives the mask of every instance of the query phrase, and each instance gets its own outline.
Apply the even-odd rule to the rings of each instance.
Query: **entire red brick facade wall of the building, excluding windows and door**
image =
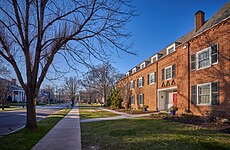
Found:
[[[230,19],[205,31],[199,36],[191,39],[188,43],[179,45],[176,47],[176,51],[172,54],[161,58],[156,63],[148,65],[144,69],[139,70],[118,83],[118,87],[122,87],[125,82],[130,84],[131,80],[135,80],[135,89],[131,90],[132,95],[135,96],[135,104],[133,105],[133,108],[138,107],[137,95],[144,94],[144,105],[148,105],[149,110],[156,110],[156,83],[148,85],[147,76],[149,73],[157,71],[156,66],[158,63],[158,89],[177,86],[177,105],[179,107],[179,113],[183,113],[185,109],[188,109],[188,100],[191,95],[189,95],[189,92],[192,85],[218,81],[220,85],[220,104],[212,106],[197,106],[190,102],[190,110],[197,115],[208,113],[210,115],[223,114],[225,116],[230,116]],[[192,71],[189,82],[188,67],[190,63],[188,62],[188,59],[190,55],[216,43],[218,43],[219,46],[218,64],[213,65],[210,68]],[[190,53],[190,55],[188,53]],[[162,87],[162,83],[165,82],[166,85],[166,81],[162,81],[161,70],[162,68],[173,64],[176,64],[176,78],[173,79],[175,84]],[[142,76],[144,76],[144,86],[138,88],[137,79]],[[170,83],[171,81],[172,80],[169,80]]]

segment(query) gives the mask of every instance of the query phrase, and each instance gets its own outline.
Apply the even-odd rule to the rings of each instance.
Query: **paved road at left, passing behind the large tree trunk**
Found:
[[[66,108],[69,104],[59,106],[44,106],[37,107],[37,120],[43,119],[54,112]],[[26,110],[0,112],[0,136],[6,135],[18,128],[21,128],[26,123]]]

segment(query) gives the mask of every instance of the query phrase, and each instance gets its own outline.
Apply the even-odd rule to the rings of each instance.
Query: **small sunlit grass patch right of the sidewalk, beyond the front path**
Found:
[[[89,118],[106,118],[118,116],[112,112],[100,110],[98,108],[80,108],[80,117],[81,119],[89,119]]]

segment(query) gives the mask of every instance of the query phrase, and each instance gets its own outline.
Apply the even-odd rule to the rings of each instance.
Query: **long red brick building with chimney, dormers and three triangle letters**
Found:
[[[117,83],[125,105],[230,116],[230,3],[212,18],[126,73]]]

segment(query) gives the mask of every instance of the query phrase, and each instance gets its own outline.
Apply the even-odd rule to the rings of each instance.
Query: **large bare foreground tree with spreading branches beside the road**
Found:
[[[133,13],[129,0],[1,1],[0,56],[25,90],[26,128],[37,128],[35,102],[47,71],[64,72],[55,65],[60,57],[77,69],[114,51],[131,53],[126,24]]]

